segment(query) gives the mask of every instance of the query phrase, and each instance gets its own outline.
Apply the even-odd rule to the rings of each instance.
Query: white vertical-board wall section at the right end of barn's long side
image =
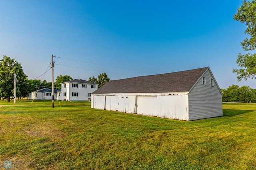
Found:
[[[157,96],[158,117],[187,120],[188,95]]]

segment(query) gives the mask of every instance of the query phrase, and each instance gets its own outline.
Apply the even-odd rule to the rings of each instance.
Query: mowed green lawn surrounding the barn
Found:
[[[11,169],[256,169],[256,104],[179,121],[90,102],[0,102],[0,166]],[[1,169],[0,168],[0,169]]]

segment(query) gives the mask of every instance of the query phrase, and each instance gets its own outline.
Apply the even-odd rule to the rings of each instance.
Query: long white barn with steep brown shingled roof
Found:
[[[209,67],[111,80],[91,107],[180,120],[222,116],[222,92]]]

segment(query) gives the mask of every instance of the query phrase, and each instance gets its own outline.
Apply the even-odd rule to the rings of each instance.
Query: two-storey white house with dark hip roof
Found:
[[[98,84],[74,79],[61,83],[61,98],[64,101],[87,101],[91,99],[91,94],[98,89]]]

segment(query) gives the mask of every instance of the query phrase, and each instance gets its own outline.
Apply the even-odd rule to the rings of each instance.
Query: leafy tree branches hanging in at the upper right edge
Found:
[[[244,51],[253,51],[256,49],[256,0],[244,0],[242,6],[234,14],[234,20],[245,23],[247,29],[245,33],[248,35],[241,45]],[[248,78],[256,78],[256,54],[238,54],[236,63],[240,69],[233,69],[236,73],[238,81],[247,80]]]

